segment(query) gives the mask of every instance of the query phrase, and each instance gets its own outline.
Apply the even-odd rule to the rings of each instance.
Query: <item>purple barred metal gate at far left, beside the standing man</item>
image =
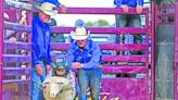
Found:
[[[0,4],[0,100],[30,100],[31,0]]]

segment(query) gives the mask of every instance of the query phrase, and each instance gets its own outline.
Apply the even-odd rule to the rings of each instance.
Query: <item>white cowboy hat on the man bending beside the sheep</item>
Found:
[[[90,30],[87,32],[85,27],[77,27],[75,32],[71,32],[71,36],[75,40],[84,40],[87,39],[90,35]]]

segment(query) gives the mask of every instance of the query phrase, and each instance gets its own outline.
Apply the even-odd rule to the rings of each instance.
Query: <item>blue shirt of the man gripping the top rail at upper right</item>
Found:
[[[119,8],[122,4],[127,4],[128,7],[136,8],[137,5],[143,7],[143,0],[114,0],[116,8]]]

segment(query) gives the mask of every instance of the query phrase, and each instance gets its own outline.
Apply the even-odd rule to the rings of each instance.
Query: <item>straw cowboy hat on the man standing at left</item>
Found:
[[[41,3],[40,7],[39,5],[36,5],[36,8],[38,10],[42,11],[47,15],[55,16],[58,14],[58,11],[56,10],[53,10],[53,7],[55,7],[55,5],[52,4],[52,3],[49,3],[49,2],[43,2],[43,3]]]

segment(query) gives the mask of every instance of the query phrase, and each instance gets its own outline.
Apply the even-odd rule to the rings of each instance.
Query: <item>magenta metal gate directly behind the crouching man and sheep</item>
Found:
[[[68,8],[67,14],[123,14],[122,9],[113,8]],[[136,10],[129,10],[129,14],[136,14]],[[142,54],[124,55],[103,54],[103,77],[101,83],[101,100],[151,100],[151,61],[149,62],[149,47],[151,47],[151,34],[149,34],[149,9],[143,10],[144,27],[87,27],[91,34],[98,35],[143,35],[145,42],[143,43],[123,43],[107,42],[99,43],[101,50],[111,51],[142,51]],[[66,16],[67,17],[67,16]],[[53,33],[68,34],[74,27],[51,27]],[[53,50],[67,50],[68,43],[52,43]],[[60,54],[61,55],[61,54]],[[55,57],[55,55],[54,55]],[[151,59],[150,59],[151,60]],[[127,64],[124,64],[127,63]],[[151,65],[152,67],[152,65]],[[120,74],[135,74],[136,77],[119,77]],[[112,75],[113,77],[106,77]],[[88,93],[90,95],[90,93]],[[153,95],[152,95],[153,96]],[[90,100],[90,96],[88,98]],[[153,99],[152,99],[153,100]]]

